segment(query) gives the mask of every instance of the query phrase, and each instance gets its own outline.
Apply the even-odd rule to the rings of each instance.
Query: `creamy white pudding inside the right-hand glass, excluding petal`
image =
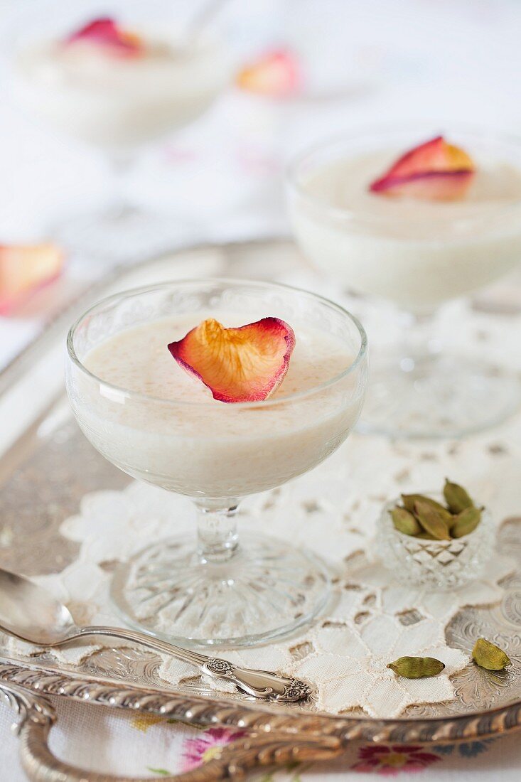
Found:
[[[520,168],[475,158],[469,191],[452,202],[369,192],[399,155],[344,157],[302,174],[291,199],[293,227],[318,269],[422,313],[516,266]]]

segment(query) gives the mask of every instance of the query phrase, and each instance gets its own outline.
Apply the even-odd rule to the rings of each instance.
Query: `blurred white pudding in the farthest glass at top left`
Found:
[[[228,81],[224,47],[146,38],[138,56],[92,41],[47,41],[17,59],[20,99],[59,130],[106,148],[152,141],[195,120]]]

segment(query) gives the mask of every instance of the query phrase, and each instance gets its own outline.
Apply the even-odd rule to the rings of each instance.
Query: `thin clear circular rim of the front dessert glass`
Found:
[[[233,404],[223,404],[222,407],[225,409],[244,410],[245,408],[259,409],[261,407],[262,408],[275,407],[275,405],[280,406],[282,404],[287,404],[289,402],[292,402],[293,400],[304,399],[307,396],[312,396],[315,393],[318,393],[319,391],[335,386],[337,382],[340,382],[340,380],[346,378],[347,375],[350,375],[367,358],[367,353],[368,353],[367,334],[365,333],[365,328],[361,325],[361,322],[358,320],[358,317],[351,314],[340,304],[337,304],[332,300],[325,298],[325,296],[319,296],[317,293],[307,291],[303,288],[296,288],[293,285],[286,285],[282,282],[264,282],[262,280],[214,277],[214,278],[204,278],[204,279],[190,278],[190,279],[181,279],[181,280],[171,280],[169,282],[159,282],[154,285],[142,285],[136,288],[131,288],[117,293],[113,293],[111,296],[105,296],[103,299],[100,299],[99,301],[92,304],[91,307],[88,307],[88,310],[85,310],[84,313],[80,315],[80,317],[77,317],[77,320],[74,321],[73,325],[70,327],[66,337],[66,348],[67,348],[67,354],[68,357],[70,358],[70,361],[72,361],[73,364],[75,364],[75,366],[89,379],[99,383],[100,386],[102,386],[103,388],[110,389],[114,393],[123,395],[126,398],[142,400],[153,404],[154,403],[168,404],[168,405],[173,405],[175,407],[178,406],[207,407],[208,401],[199,402],[199,401],[181,400],[181,399],[180,400],[163,399],[160,396],[153,396],[151,394],[141,393],[139,391],[127,389],[124,386],[117,386],[115,383],[111,383],[106,380],[103,380],[103,378],[100,378],[99,375],[95,375],[94,372],[88,370],[85,367],[84,363],[77,356],[76,349],[74,347],[74,337],[76,335],[77,329],[84,322],[85,318],[95,313],[95,310],[97,310],[98,308],[106,306],[107,304],[113,302],[117,302],[117,300],[124,300],[124,298],[127,298],[129,296],[138,296],[141,293],[150,293],[154,291],[161,291],[167,289],[178,289],[180,287],[189,288],[193,285],[207,285],[207,286],[208,285],[236,285],[236,286],[247,285],[249,287],[258,286],[259,288],[264,288],[264,289],[268,288],[268,289],[280,290],[282,292],[289,291],[292,293],[297,293],[302,296],[306,296],[310,300],[318,301],[319,303],[325,305],[325,307],[329,307],[330,310],[333,310],[337,314],[340,314],[341,316],[345,317],[348,321],[350,321],[352,325],[354,325],[360,337],[360,347],[358,349],[358,353],[354,357],[354,360],[347,366],[347,368],[345,368],[342,372],[340,372],[340,374],[334,375],[332,378],[329,378],[329,380],[325,380],[324,382],[320,383],[318,386],[313,386],[311,389],[306,389],[305,391],[297,391],[296,393],[289,394],[288,396],[282,396],[279,397],[278,399],[270,399],[268,397],[268,399],[266,400],[257,400],[254,402],[235,402]]]

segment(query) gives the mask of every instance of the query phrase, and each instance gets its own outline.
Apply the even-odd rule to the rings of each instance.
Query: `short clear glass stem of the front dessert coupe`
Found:
[[[237,553],[237,500],[225,505],[197,500],[197,554],[202,562],[225,562]]]

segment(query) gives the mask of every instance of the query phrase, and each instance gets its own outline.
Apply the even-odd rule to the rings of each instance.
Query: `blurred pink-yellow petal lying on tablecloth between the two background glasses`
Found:
[[[239,71],[236,81],[248,92],[285,98],[300,87],[300,68],[291,52],[268,52]]]

